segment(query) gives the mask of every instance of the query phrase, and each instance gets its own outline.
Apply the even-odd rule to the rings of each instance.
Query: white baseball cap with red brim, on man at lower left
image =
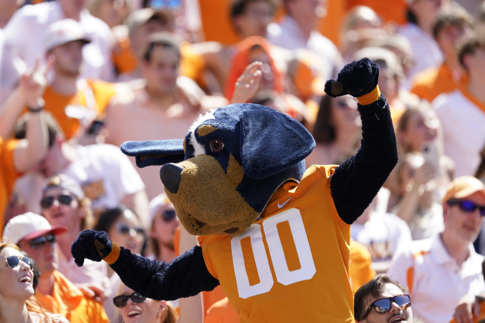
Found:
[[[5,226],[2,239],[4,242],[17,244],[21,240],[35,239],[46,233],[58,235],[66,231],[64,226],[51,226],[39,214],[27,212],[10,219]]]

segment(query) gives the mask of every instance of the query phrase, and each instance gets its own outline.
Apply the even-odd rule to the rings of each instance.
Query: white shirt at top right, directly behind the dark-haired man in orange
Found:
[[[404,84],[409,89],[415,74],[443,63],[443,54],[434,38],[415,24],[407,23],[399,27],[398,34],[409,40],[413,52],[413,65],[409,69],[407,81]]]

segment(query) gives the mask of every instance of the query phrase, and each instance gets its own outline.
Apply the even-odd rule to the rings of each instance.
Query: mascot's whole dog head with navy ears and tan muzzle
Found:
[[[282,183],[301,179],[314,147],[299,122],[248,103],[201,116],[183,140],[127,141],[121,150],[138,167],[163,165],[160,178],[189,233],[237,236]]]

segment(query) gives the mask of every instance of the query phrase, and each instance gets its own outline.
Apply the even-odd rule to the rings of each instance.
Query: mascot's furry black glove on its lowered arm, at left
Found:
[[[71,254],[78,266],[82,266],[84,258],[101,261],[112,249],[113,244],[105,231],[83,230],[71,244]]]

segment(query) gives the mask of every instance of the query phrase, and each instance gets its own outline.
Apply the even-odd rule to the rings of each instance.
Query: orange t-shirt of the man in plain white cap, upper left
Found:
[[[86,86],[80,87],[74,95],[59,94],[51,86],[47,86],[42,97],[45,100],[44,111],[53,115],[66,140],[69,140],[76,134],[80,121],[72,115],[68,116],[66,107],[74,107],[75,112],[80,114],[91,109],[97,115],[102,115],[115,93],[115,84],[100,80],[86,80]]]

